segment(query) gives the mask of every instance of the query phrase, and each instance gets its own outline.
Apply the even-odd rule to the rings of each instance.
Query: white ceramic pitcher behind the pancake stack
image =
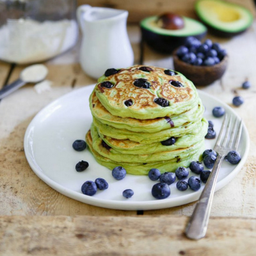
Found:
[[[128,12],[84,4],[77,8],[77,20],[83,33],[80,63],[95,79],[108,68],[133,65],[134,54],[127,35]]]

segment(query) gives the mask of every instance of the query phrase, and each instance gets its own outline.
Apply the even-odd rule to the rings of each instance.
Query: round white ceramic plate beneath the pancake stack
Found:
[[[84,136],[92,123],[92,115],[88,98],[93,86],[86,86],[55,100],[40,111],[29,124],[24,138],[26,158],[36,175],[51,188],[61,194],[86,204],[122,210],[149,210],[174,207],[198,200],[200,191],[181,192],[176,182],[170,186],[171,195],[164,200],[156,200],[151,195],[151,188],[156,183],[147,176],[127,175],[123,180],[115,180],[111,171],[98,164],[89,150],[77,152],[72,148],[75,140],[84,140]],[[214,129],[220,131],[223,118],[214,118],[211,114],[214,106],[223,106],[227,113],[236,113],[220,100],[198,91],[204,106],[205,118],[214,122]],[[213,148],[215,140],[205,140],[205,148]],[[221,167],[216,190],[225,186],[241,170],[249,150],[249,136],[243,127],[239,152],[241,161],[237,165],[225,161]],[[84,172],[76,172],[75,166],[81,161],[88,161],[90,166]],[[157,166],[156,166],[157,167]],[[191,173],[189,174],[191,175]],[[193,174],[195,175],[195,174]],[[109,188],[97,191],[94,196],[81,193],[81,186],[86,180],[98,177],[106,179]],[[126,199],[122,196],[124,189],[134,190],[134,196]]]

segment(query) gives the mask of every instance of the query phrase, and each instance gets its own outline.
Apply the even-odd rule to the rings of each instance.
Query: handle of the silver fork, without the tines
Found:
[[[211,175],[205,184],[204,190],[196,203],[196,207],[186,227],[185,233],[190,239],[198,240],[205,236],[218,173],[224,157],[220,154],[217,156]]]

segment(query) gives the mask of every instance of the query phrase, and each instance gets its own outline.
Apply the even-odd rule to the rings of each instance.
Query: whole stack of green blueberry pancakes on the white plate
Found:
[[[165,68],[109,69],[90,95],[93,123],[86,142],[103,166],[147,175],[198,161],[208,122],[191,81]]]

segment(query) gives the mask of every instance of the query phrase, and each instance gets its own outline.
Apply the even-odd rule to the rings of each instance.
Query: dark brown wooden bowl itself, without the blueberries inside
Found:
[[[193,66],[184,61],[181,61],[176,55],[176,51],[173,52],[174,69],[191,80],[195,86],[209,85],[220,79],[226,71],[227,63],[228,56],[226,55],[223,60],[220,61],[220,63],[214,66]]]

